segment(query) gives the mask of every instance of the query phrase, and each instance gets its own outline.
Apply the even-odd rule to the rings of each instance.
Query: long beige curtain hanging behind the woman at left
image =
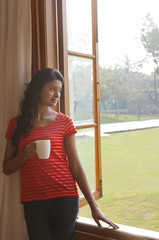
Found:
[[[19,112],[31,75],[31,2],[0,0],[0,239],[28,239],[20,204],[19,172],[2,173],[9,119]]]

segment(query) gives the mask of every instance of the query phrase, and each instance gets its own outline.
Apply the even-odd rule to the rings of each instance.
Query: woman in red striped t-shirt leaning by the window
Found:
[[[21,169],[21,203],[31,240],[68,240],[79,209],[76,182],[92,216],[114,229],[118,226],[97,207],[80,164],[72,120],[52,110],[60,99],[63,76],[56,69],[38,71],[29,83],[20,115],[10,120],[3,171]],[[49,159],[38,159],[35,141],[51,140]]]

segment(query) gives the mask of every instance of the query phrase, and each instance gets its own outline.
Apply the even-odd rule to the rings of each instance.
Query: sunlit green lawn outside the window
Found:
[[[159,128],[111,134],[101,143],[99,208],[116,223],[159,231]],[[89,207],[79,215],[91,217]]]

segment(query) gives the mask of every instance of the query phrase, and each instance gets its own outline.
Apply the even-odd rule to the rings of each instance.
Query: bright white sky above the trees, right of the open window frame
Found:
[[[149,12],[159,26],[159,0],[98,0],[99,63],[103,67],[122,65],[127,55],[131,62],[145,58],[140,31]],[[142,71],[151,74],[153,61]]]

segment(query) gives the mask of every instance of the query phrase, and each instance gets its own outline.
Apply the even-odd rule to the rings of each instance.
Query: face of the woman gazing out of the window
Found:
[[[39,94],[39,103],[49,107],[55,107],[60,99],[62,83],[60,80],[52,80],[45,83]]]

